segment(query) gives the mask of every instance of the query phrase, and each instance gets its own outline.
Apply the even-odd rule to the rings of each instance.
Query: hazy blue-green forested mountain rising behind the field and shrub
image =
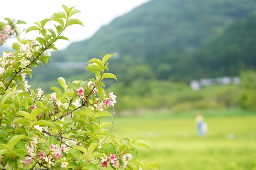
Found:
[[[228,58],[232,52],[236,53],[232,49],[243,49],[236,48],[241,42],[233,40],[238,34],[231,34],[230,30],[240,29],[237,24],[246,23],[243,18],[247,16],[250,20],[255,9],[256,0],[152,0],[114,19],[90,39],[72,43],[66,50],[53,53],[52,57],[54,62],[86,63],[90,58],[117,53],[109,60],[110,72],[127,85],[134,79],[188,83],[195,78],[237,75],[237,65],[228,64]],[[86,23],[84,25],[86,27]],[[244,27],[239,35],[248,33],[246,29]],[[230,46],[229,52],[226,46]],[[241,54],[245,55],[246,51]],[[247,68],[248,62],[239,63],[239,68]],[[235,71],[231,71],[233,68]],[[49,67],[47,71],[42,75],[41,68],[35,69],[37,78],[34,80],[56,82],[56,78],[63,76],[71,81],[85,75],[82,68]]]

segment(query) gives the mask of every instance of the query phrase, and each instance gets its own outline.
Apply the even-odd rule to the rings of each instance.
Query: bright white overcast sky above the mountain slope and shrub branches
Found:
[[[74,7],[81,13],[74,15],[83,22],[81,25],[71,25],[64,36],[69,41],[59,40],[55,45],[60,50],[68,46],[69,43],[80,41],[91,37],[102,25],[109,24],[113,19],[130,12],[133,8],[139,7],[150,0],[12,0],[1,1],[0,21],[5,17],[15,20],[26,21],[26,28],[30,27],[35,21],[49,18],[53,13],[64,11],[62,4],[68,8]],[[25,28],[23,26],[23,28]],[[21,27],[21,25],[20,25]],[[27,33],[27,37],[33,39],[38,35],[37,31]],[[25,33],[22,34],[24,38]],[[5,46],[11,47],[15,40],[9,40]]]

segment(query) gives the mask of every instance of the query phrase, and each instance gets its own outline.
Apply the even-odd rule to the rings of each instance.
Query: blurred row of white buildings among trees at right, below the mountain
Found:
[[[192,80],[190,82],[190,88],[192,90],[199,90],[203,86],[210,86],[212,84],[239,84],[240,78],[238,77],[219,77],[215,79],[200,79],[200,80]]]

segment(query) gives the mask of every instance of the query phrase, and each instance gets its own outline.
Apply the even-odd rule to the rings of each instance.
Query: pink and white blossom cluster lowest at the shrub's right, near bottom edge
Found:
[[[108,157],[104,154],[104,157],[100,157],[101,158],[101,162],[100,162],[101,167],[107,167],[108,163],[111,163],[114,168],[118,168],[118,166],[119,166],[120,168],[125,169],[128,164],[128,161],[131,161],[131,159],[132,159],[131,154],[124,154],[123,157],[120,159],[123,161],[123,165],[121,166],[119,163],[120,160],[118,160],[116,156],[117,156],[116,154],[110,154],[110,156]]]

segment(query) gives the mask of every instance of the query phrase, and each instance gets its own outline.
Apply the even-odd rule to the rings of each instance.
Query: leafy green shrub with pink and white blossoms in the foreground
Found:
[[[41,88],[30,89],[27,75],[32,77],[31,68],[51,60],[48,50],[57,51],[54,43],[59,39],[68,40],[61,36],[65,28],[83,25],[78,19],[70,19],[80,12],[78,9],[65,5],[63,8],[65,12],[54,13],[49,19],[35,22],[35,26],[26,29],[26,33],[39,31],[34,40],[20,39],[15,21],[0,22],[0,44],[10,36],[17,36],[19,41],[13,44],[13,53],[5,51],[0,58],[0,168],[159,169],[157,163],[144,166],[139,159],[136,146],[150,149],[146,141],[118,140],[111,134],[112,128],[110,131],[104,129],[108,123],[102,122],[102,117],[112,117],[107,110],[116,103],[116,95],[106,94],[102,83],[105,78],[116,79],[108,72],[107,60],[113,54],[88,62],[86,69],[95,74],[89,81],[76,80],[67,84],[60,77],[58,82],[62,88],[51,87],[54,93],[48,95]],[[56,31],[44,28],[49,21],[58,23]]]

